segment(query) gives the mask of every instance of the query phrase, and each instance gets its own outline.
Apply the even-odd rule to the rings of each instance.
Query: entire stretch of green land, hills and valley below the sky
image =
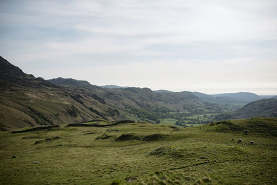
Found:
[[[277,183],[274,97],[44,80],[0,59],[0,184]]]

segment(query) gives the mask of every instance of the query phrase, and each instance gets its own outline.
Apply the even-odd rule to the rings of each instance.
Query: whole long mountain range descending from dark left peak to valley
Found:
[[[91,119],[109,121],[132,119],[156,122],[221,112],[222,108],[204,103],[191,92],[155,92],[148,88],[107,89],[71,78],[44,80],[21,71],[0,58],[0,127],[60,125]]]

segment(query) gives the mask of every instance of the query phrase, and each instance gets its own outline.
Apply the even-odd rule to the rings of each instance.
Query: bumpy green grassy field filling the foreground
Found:
[[[277,184],[276,143],[277,118],[0,132],[0,184]]]

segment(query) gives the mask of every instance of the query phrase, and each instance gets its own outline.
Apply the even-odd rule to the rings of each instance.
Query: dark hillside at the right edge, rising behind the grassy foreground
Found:
[[[218,115],[217,120],[255,117],[277,117],[277,99],[270,98],[251,102],[235,112]]]

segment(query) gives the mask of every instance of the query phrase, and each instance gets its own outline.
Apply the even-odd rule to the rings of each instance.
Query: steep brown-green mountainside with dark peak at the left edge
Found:
[[[35,78],[18,67],[0,58],[0,127],[55,125],[80,123],[95,118],[123,119],[118,110],[107,105],[108,101],[98,96],[100,87],[71,79],[50,80]],[[87,89],[62,87],[70,82],[75,87],[87,85]],[[73,82],[73,83],[72,83]]]

